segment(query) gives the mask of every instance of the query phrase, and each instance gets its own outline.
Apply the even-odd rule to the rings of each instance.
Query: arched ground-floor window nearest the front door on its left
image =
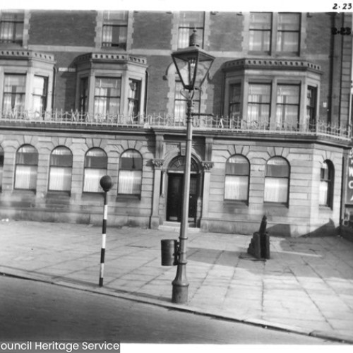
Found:
[[[126,150],[121,154],[118,193],[140,195],[143,159],[137,150]]]

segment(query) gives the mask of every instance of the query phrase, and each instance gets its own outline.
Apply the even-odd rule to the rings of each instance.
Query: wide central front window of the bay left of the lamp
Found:
[[[95,114],[119,114],[120,95],[121,78],[95,78]]]

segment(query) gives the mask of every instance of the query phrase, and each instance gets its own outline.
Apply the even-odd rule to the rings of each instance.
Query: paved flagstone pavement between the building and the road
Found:
[[[353,343],[353,243],[342,237],[270,237],[270,259],[249,256],[251,236],[190,229],[189,301],[172,303],[176,266],[161,240],[176,228],[102,228],[0,220],[0,273],[169,309]]]

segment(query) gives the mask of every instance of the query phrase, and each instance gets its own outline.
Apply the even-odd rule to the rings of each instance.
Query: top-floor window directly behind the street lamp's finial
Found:
[[[203,48],[203,30],[205,13],[198,11],[181,11],[179,13],[178,49],[189,47],[190,36],[197,30],[200,47]]]

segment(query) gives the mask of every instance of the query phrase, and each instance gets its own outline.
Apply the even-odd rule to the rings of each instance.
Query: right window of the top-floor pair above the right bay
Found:
[[[299,54],[300,13],[279,13],[277,52]]]

